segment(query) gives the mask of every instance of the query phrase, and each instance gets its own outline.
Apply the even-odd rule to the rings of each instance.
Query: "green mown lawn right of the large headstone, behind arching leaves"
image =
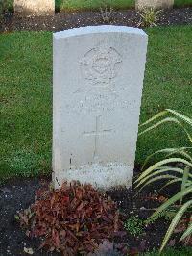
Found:
[[[192,116],[191,26],[152,28],[140,123],[166,108]],[[188,144],[181,129],[166,124],[139,138],[136,163],[157,149]]]

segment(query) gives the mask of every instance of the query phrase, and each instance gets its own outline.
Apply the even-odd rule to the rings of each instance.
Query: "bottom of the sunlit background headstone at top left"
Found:
[[[55,13],[55,0],[14,0],[14,13],[46,15]]]

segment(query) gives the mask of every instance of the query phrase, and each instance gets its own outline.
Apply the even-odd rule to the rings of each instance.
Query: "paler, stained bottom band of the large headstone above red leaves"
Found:
[[[133,166],[125,164],[109,163],[106,165],[92,164],[71,168],[54,173],[55,188],[61,187],[59,181],[79,181],[81,184],[89,183],[95,188],[108,190],[118,187],[132,187]]]

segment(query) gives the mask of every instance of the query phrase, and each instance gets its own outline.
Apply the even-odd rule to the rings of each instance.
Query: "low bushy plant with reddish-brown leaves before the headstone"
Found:
[[[89,253],[122,228],[116,204],[91,185],[77,182],[59,190],[40,190],[36,202],[19,213],[27,235],[40,237],[40,248],[63,255]]]

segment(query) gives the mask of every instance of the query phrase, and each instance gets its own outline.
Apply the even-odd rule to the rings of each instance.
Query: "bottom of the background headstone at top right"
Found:
[[[143,8],[167,9],[172,8],[174,0],[136,0],[135,7],[137,10]]]

